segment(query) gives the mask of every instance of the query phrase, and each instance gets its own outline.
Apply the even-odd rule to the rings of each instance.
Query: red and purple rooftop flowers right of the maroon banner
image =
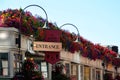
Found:
[[[81,42],[75,42],[77,37],[80,38]],[[101,59],[111,63],[112,60],[117,56],[116,52],[109,50],[108,48],[99,44],[93,44],[83,37],[72,35],[69,32],[62,32],[61,42],[63,43],[63,47],[66,50],[70,51],[71,53],[80,51],[82,56],[91,60]]]

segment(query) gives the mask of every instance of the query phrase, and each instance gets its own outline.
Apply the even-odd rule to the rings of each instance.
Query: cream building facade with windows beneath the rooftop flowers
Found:
[[[20,71],[22,62],[32,58],[38,64],[39,71],[46,80],[51,80],[54,65],[45,61],[44,52],[32,49],[33,37],[21,35],[21,48],[18,48],[18,30],[16,28],[0,28],[0,79],[10,79]],[[65,49],[60,52],[60,61],[64,66],[63,73],[71,80],[103,80],[103,74],[109,73],[112,77],[120,74],[112,64],[102,65],[103,61],[91,60],[83,57],[81,52],[71,53]],[[56,63],[56,64],[57,64]]]

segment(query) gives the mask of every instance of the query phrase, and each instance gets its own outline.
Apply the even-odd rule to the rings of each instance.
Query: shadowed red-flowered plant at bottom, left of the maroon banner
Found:
[[[35,62],[27,59],[22,65],[22,71],[15,74],[12,80],[44,80],[42,73],[35,71]]]

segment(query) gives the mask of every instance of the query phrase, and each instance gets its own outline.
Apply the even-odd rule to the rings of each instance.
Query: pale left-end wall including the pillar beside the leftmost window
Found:
[[[17,50],[15,41],[17,34],[18,30],[15,28],[0,28],[0,53],[8,53],[8,63],[6,63],[6,66],[8,66],[8,77],[13,77],[14,75],[14,56],[11,51],[12,49]]]

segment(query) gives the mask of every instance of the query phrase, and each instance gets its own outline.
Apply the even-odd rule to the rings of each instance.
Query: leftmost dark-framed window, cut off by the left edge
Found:
[[[0,53],[0,75],[8,75],[8,53]]]

